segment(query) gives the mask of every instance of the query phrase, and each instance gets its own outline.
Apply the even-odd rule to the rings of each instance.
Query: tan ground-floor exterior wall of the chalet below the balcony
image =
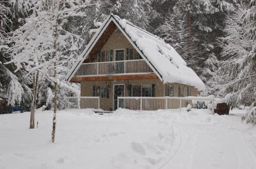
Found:
[[[129,85],[150,85],[156,86],[156,97],[165,96],[165,85],[159,79],[137,79],[137,80],[108,80],[108,81],[81,81],[81,96],[93,96],[93,86],[108,86],[109,98],[100,98],[100,108],[103,110],[114,109],[114,85],[124,85],[124,96],[129,96]],[[178,97],[179,86],[189,87],[179,83],[169,83],[174,86],[174,96]],[[187,91],[184,90],[184,97]],[[197,96],[197,90],[191,87],[191,96]]]

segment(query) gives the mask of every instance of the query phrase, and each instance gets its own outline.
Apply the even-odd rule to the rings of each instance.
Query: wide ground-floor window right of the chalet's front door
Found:
[[[133,97],[152,97],[152,85],[133,85]]]

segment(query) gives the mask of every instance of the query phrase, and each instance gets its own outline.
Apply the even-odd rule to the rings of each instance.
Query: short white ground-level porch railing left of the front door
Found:
[[[68,108],[99,108],[99,97],[68,97]]]

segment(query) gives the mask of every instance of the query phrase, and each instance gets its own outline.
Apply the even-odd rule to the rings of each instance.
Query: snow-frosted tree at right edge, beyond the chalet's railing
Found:
[[[227,18],[224,32],[220,38],[224,60],[218,70],[222,79],[220,96],[228,98],[229,104],[255,106],[256,93],[256,60],[255,60],[255,13],[252,7],[242,3],[237,5],[236,12]],[[243,16],[243,17],[242,17]],[[250,117],[250,116],[249,116]],[[248,120],[248,118],[246,118]],[[248,120],[251,122],[250,120]],[[255,123],[255,122],[254,122]]]

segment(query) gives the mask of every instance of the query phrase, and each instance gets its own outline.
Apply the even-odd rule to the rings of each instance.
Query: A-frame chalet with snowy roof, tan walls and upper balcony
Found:
[[[205,88],[176,50],[133,23],[110,15],[91,35],[68,81],[81,83],[81,97],[99,97],[103,110],[117,97],[197,96]]]

